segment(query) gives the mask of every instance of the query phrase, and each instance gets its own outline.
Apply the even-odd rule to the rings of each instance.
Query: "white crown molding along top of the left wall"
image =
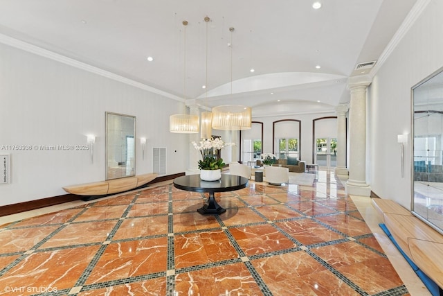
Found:
[[[154,94],[159,94],[161,96],[165,96],[167,98],[172,98],[172,100],[184,102],[183,98],[179,96],[174,96],[173,94],[169,94],[168,92],[163,92],[160,89],[156,89],[154,87],[150,87],[149,85],[145,85],[144,83],[137,82],[135,80],[125,78],[123,76],[117,75],[115,73],[100,69],[98,67],[91,66],[90,64],[86,64],[84,62],[80,62],[78,60],[74,60],[73,58],[68,58],[64,55],[60,55],[59,53],[54,53],[53,51],[48,51],[47,49],[42,49],[39,46],[35,46],[33,44],[29,44],[27,42],[23,42],[21,40],[17,40],[8,35],[0,34],[0,43],[6,44],[8,46],[15,47],[16,49],[21,49],[23,51],[27,51],[29,53],[34,53],[35,55],[40,55],[44,58],[48,58],[51,60],[55,60],[57,62],[61,62],[62,64],[67,64],[71,67],[75,67],[78,69],[82,69],[84,71],[88,71],[90,73],[94,73],[112,80],[116,80],[118,82],[125,83],[126,85],[131,85],[133,87],[137,87],[139,89],[143,89],[147,92],[152,92]]]

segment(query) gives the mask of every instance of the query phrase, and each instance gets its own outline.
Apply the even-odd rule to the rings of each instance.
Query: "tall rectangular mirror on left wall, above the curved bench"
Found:
[[[136,174],[136,117],[106,112],[106,180]]]

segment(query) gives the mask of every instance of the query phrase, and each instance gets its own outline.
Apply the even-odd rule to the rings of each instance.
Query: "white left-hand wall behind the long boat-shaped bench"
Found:
[[[105,112],[136,116],[136,173],[152,172],[152,148],[166,147],[167,173],[186,171],[188,135],[169,132],[170,114],[183,103],[55,60],[0,44],[0,148],[8,150],[11,183],[0,185],[0,205],[65,194],[62,186],[105,180]],[[84,145],[87,150],[37,150]],[[147,138],[142,159],[140,137]],[[176,152],[177,151],[177,152]]]

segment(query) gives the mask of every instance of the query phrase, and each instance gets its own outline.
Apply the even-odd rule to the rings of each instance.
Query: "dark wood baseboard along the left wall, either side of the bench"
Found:
[[[154,180],[149,182],[147,185],[159,182],[165,182],[168,180],[174,180],[176,177],[180,177],[185,175],[185,173],[177,173],[174,175],[163,175],[160,177],[156,177]],[[42,198],[39,200],[30,200],[28,202],[19,202],[17,204],[7,204],[4,206],[0,206],[0,217],[1,216],[8,216],[12,214],[22,213],[24,211],[31,211],[33,209],[42,209],[44,207],[50,207],[55,204],[64,204],[65,202],[72,202],[74,200],[82,200],[84,198],[84,195],[75,195],[75,194],[64,194],[64,195],[57,195],[52,196],[50,198]]]

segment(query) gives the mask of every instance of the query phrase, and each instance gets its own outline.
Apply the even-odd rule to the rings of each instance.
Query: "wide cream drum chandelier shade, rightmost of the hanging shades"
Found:
[[[242,105],[213,107],[213,129],[215,130],[249,130],[251,121],[251,107]]]

